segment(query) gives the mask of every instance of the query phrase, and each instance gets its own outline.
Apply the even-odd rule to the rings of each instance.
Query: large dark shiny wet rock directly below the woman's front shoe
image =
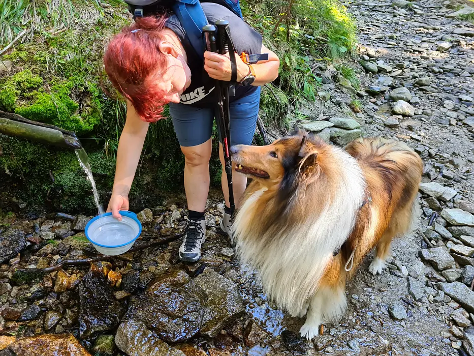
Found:
[[[184,341],[199,331],[206,295],[186,272],[178,270],[156,278],[145,295],[147,302],[134,318],[143,321],[161,339]]]

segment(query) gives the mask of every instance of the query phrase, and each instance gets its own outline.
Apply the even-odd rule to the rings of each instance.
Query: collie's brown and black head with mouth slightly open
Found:
[[[278,185],[280,191],[290,193],[318,179],[324,164],[322,155],[329,149],[320,137],[296,130],[266,146],[232,146],[231,155],[237,172],[267,188]]]

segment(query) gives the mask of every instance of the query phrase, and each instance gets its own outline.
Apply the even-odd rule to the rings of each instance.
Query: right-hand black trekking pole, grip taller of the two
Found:
[[[227,26],[229,21],[217,20],[215,21],[217,26],[217,40],[219,41],[220,54],[225,55],[229,53],[229,39]],[[233,53],[232,53],[233,54]],[[235,202],[234,202],[234,191],[232,184],[232,158],[229,154],[231,145],[231,130],[230,130],[230,110],[229,110],[229,82],[223,82],[220,85],[220,98],[222,99],[222,121],[221,121],[221,133],[222,133],[222,146],[224,152],[224,162],[227,174],[227,183],[229,185],[229,204],[231,209],[231,218],[234,217]]]

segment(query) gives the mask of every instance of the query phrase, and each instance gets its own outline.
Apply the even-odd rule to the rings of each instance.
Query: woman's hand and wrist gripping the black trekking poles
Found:
[[[237,82],[240,82],[250,73],[250,68],[242,62],[242,58],[235,53],[237,62]],[[229,53],[223,55],[214,52],[204,52],[204,69],[213,79],[230,81],[231,80],[231,60]]]

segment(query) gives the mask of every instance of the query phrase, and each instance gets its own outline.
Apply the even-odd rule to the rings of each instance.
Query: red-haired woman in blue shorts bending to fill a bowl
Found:
[[[202,3],[209,23],[226,19],[237,51],[237,85],[230,97],[232,145],[251,144],[260,102],[260,85],[278,76],[279,60],[262,44],[262,36],[224,6]],[[245,64],[238,54],[268,53],[268,60]],[[209,159],[216,97],[210,78],[229,81],[228,55],[204,53],[202,58],[189,43],[176,15],[168,18],[137,19],[116,35],[104,56],[107,75],[114,87],[127,99],[127,119],[120,136],[117,165],[108,212],[121,219],[119,210],[128,210],[128,194],[137,169],[143,142],[151,122],[161,118],[169,103],[173,126],[184,154],[184,189],[188,217],[179,257],[197,261],[206,239],[204,209],[209,192]],[[220,141],[220,140],[219,140]],[[220,161],[224,164],[222,144]],[[238,201],[246,186],[246,177],[233,174],[233,190]],[[220,227],[228,232],[230,208],[227,176],[223,170],[222,188],[226,212]]]

